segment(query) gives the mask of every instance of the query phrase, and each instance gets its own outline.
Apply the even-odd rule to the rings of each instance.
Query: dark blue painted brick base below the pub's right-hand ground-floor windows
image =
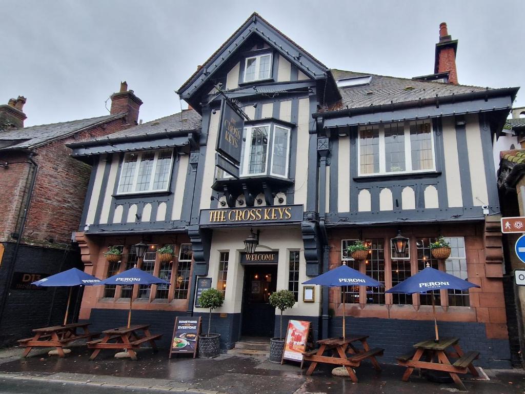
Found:
[[[438,322],[440,337],[459,337],[464,351],[480,352],[475,365],[490,368],[510,368],[509,341],[486,337],[482,323]],[[330,320],[330,336],[342,336],[342,317]],[[369,335],[371,347],[385,349],[383,362],[396,362],[396,356],[407,353],[415,343],[433,338],[434,322],[429,320],[398,320],[380,318],[346,318],[346,333]]]

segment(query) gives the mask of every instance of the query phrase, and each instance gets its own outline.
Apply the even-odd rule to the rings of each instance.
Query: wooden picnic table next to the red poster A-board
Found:
[[[318,340],[317,343],[320,345],[319,349],[313,349],[302,354],[304,361],[311,361],[310,367],[306,371],[306,375],[312,375],[318,362],[322,362],[324,364],[334,364],[345,367],[352,381],[357,382],[358,377],[355,375],[352,367],[359,367],[361,361],[367,358],[370,359],[372,365],[377,371],[381,371],[379,362],[377,362],[375,357],[382,356],[384,349],[370,349],[366,343],[366,338],[368,337],[368,335],[352,335],[345,339],[327,338]],[[363,348],[356,348],[354,346],[354,343],[356,342],[361,342]],[[331,356],[324,356],[323,354],[325,351],[331,351]]]

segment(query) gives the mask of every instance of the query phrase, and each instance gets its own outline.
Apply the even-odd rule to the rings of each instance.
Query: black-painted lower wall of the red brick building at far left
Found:
[[[8,285],[7,273],[15,244],[4,243],[5,252],[0,265],[0,302]],[[62,263],[63,262],[63,263]],[[60,270],[60,265],[62,269]],[[43,247],[20,245],[14,272],[56,274],[66,269],[82,268],[77,249],[65,252]],[[17,339],[29,337],[31,329],[64,323],[67,287],[49,287],[44,291],[10,290],[4,316],[0,322],[0,346],[14,344]],[[53,302],[53,296],[55,299]],[[70,316],[74,315],[78,288],[71,298]],[[71,320],[70,320],[71,321]]]

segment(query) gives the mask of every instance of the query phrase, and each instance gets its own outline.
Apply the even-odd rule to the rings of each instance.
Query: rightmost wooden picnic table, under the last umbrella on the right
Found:
[[[413,351],[397,358],[399,365],[407,367],[403,381],[408,380],[414,368],[445,371],[448,372],[459,389],[465,390],[465,386],[457,374],[466,374],[470,371],[472,375],[479,376],[478,371],[472,365],[472,361],[479,357],[479,351],[464,352],[458,342],[459,338],[440,338],[437,342],[434,339],[429,339],[415,344]],[[446,349],[449,347],[453,347],[455,351],[447,352]],[[423,356],[425,359],[422,361]],[[457,358],[457,360],[451,363],[449,357]]]

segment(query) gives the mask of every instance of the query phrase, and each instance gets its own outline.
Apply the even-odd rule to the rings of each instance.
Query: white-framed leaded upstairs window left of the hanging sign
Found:
[[[126,153],[122,161],[118,193],[168,190],[172,162],[172,149]]]

